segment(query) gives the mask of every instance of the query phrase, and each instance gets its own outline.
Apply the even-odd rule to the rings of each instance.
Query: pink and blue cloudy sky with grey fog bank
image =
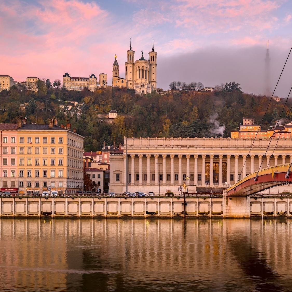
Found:
[[[129,39],[136,60],[154,39],[159,87],[234,80],[262,93],[266,42],[274,86],[292,45],[291,15],[289,0],[0,1],[0,70],[16,81],[107,73],[111,83],[115,54],[124,76]]]

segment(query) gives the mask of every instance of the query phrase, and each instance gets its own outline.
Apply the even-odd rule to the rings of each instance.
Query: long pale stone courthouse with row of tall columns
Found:
[[[256,139],[253,143],[253,139],[230,138],[125,138],[124,152],[110,155],[109,191],[125,192],[126,183],[129,192],[161,194],[167,190],[178,193],[178,186],[184,183],[189,193],[197,192],[197,187],[233,185],[259,169],[291,163],[291,139],[273,139],[265,155],[269,142],[270,139]]]

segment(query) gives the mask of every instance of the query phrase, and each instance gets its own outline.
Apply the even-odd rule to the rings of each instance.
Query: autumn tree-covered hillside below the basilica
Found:
[[[85,137],[85,151],[100,150],[103,141],[106,145],[112,145],[114,140],[123,143],[124,136],[218,137],[223,134],[228,137],[243,117],[253,118],[260,124],[270,99],[243,93],[235,82],[217,86],[220,91],[214,93],[157,89],[141,96],[126,88],[68,91],[47,80],[40,81],[38,89],[33,92],[13,86],[9,91],[1,91],[0,123],[16,123],[18,114],[27,117],[27,123],[39,124],[56,117],[59,125],[70,122]],[[70,101],[80,103],[78,112],[75,108],[69,110]],[[280,102],[272,100],[263,129],[279,119],[282,107]],[[290,107],[289,100],[282,117],[286,118]],[[118,117],[112,124],[100,123],[98,115],[108,115],[111,109],[117,110]]]

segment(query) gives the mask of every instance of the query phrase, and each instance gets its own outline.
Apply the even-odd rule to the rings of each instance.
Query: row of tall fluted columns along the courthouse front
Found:
[[[143,173],[143,157],[147,158],[147,171]],[[138,156],[139,159],[139,167],[138,169],[135,169],[135,159]],[[154,156],[154,159],[151,157]],[[178,157],[178,166],[175,169],[174,159],[175,156]],[[201,173],[198,173],[198,157],[201,156],[200,159],[200,171]],[[255,157],[257,156],[258,160],[258,167],[255,168]],[[281,161],[279,160],[281,156]],[[285,154],[279,155],[279,154],[273,154],[274,158],[274,165],[279,164],[285,164],[286,163],[286,156]],[[193,174],[193,181],[189,181],[192,185],[200,185],[202,187],[205,187],[208,182],[206,183],[206,163],[210,163],[210,187],[214,186],[213,183],[213,162],[219,163],[219,180],[218,185],[223,186],[225,181],[223,182],[223,163],[227,163],[227,175],[226,175],[226,183],[228,185],[231,184],[231,168],[234,170],[234,181],[232,183],[237,181],[237,178],[244,178],[247,175],[247,159],[250,158],[250,172],[253,173],[254,171],[258,171],[258,169],[270,167],[273,165],[270,165],[270,161],[272,158],[272,155],[268,154],[266,155],[266,164],[263,165],[263,154],[129,154],[128,158],[131,157],[131,163],[128,163],[128,165],[131,165],[131,171],[126,170],[126,155],[123,155],[124,157],[124,173],[125,174],[131,174],[131,179],[128,183],[131,183],[131,185],[153,185],[151,181],[154,180],[154,185],[182,185],[183,181],[185,181],[185,178],[183,178],[183,172],[185,173],[185,177],[189,177]],[[182,166],[182,158],[186,159],[186,165],[184,167]],[[215,157],[215,161],[214,161]],[[234,167],[231,165],[231,158],[234,157]],[[242,168],[239,169],[239,157],[242,157]],[[292,162],[292,155],[289,155],[290,157],[290,163]],[[162,158],[162,163],[161,163]],[[170,158],[170,169],[166,167],[166,159]],[[219,160],[218,160],[219,158]],[[194,161],[194,168],[190,169],[190,160],[193,159]],[[207,159],[207,160],[206,160]],[[154,174],[151,173],[151,162],[153,163],[154,160]],[[161,168],[162,165],[162,168]],[[129,170],[129,168],[128,168]],[[153,171],[152,171],[153,172]],[[168,172],[168,175],[167,175]],[[143,176],[145,175],[146,176]],[[201,174],[200,176],[200,183],[198,181],[198,174]],[[239,176],[240,174],[240,176]],[[153,177],[154,175],[154,177]],[[160,176],[160,177],[159,177]],[[162,176],[162,179],[160,180]],[[169,179],[170,176],[170,179]],[[146,179],[145,179],[146,178]],[[154,178],[154,179],[153,179]],[[167,180],[170,182],[167,183]],[[145,181],[143,183],[143,181]],[[175,183],[176,181],[176,183]],[[136,183],[135,183],[136,182]]]

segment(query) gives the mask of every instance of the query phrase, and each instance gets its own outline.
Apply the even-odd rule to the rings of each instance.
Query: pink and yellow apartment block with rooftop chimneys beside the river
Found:
[[[70,124],[0,124],[1,191],[75,193],[83,189],[83,139]]]

